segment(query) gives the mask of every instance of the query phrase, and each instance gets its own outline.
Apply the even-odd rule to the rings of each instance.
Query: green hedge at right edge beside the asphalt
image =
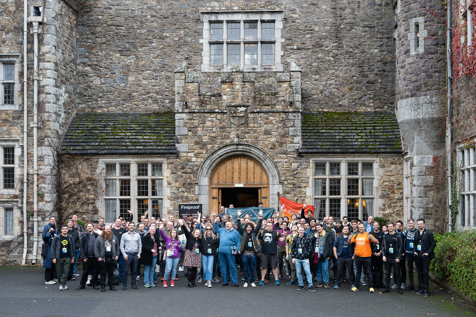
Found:
[[[476,300],[476,230],[435,234],[435,275]]]

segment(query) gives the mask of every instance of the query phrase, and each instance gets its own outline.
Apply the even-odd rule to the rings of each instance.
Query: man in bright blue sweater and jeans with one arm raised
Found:
[[[210,220],[214,221],[217,212],[212,210],[210,214]],[[230,271],[231,283],[235,287],[238,285],[238,272],[236,265],[236,254],[241,244],[241,236],[238,231],[233,228],[233,224],[230,221],[225,222],[225,228],[219,228],[218,222],[214,222],[215,231],[217,231],[220,237],[220,246],[218,247],[218,259],[220,261],[220,271],[223,275],[223,284],[221,286],[228,285],[228,269]]]

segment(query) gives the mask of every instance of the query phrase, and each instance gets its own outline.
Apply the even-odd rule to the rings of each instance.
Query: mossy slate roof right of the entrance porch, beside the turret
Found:
[[[302,114],[301,154],[402,153],[395,112]]]

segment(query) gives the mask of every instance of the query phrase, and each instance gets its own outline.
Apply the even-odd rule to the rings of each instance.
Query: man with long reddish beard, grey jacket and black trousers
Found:
[[[116,290],[112,285],[113,272],[116,261],[119,258],[119,241],[111,232],[111,227],[105,225],[99,237],[94,243],[94,255],[99,261],[101,269],[101,292],[106,289],[106,274],[108,275],[108,285],[110,290]]]

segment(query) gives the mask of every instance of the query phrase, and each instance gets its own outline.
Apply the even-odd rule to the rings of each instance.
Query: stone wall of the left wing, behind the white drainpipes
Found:
[[[75,111],[76,102],[76,12],[63,0],[29,1],[29,6],[44,6],[45,22],[40,24],[39,33],[39,128],[38,128],[38,164],[39,164],[39,204],[38,215],[41,219],[39,235],[43,221],[50,215],[55,202],[55,178],[57,176],[56,151],[69,118]],[[20,83],[23,82],[23,2],[5,0],[1,3],[4,10],[0,19],[0,54],[20,54],[17,67]],[[30,11],[29,11],[30,12]],[[28,206],[33,213],[33,33],[28,23]],[[18,93],[18,110],[1,110],[1,138],[23,138],[23,85]],[[20,145],[23,142],[20,141]],[[23,155],[19,157],[19,168],[15,170],[20,182],[15,184],[18,194],[1,194],[5,202],[15,202],[14,229],[19,234],[13,240],[0,245],[0,265],[20,264],[23,252],[23,214],[22,214],[22,177]],[[33,218],[28,217],[27,228],[28,256],[33,247]],[[41,241],[38,254],[41,253]],[[39,262],[41,258],[38,257]],[[39,263],[37,262],[37,263]]]

